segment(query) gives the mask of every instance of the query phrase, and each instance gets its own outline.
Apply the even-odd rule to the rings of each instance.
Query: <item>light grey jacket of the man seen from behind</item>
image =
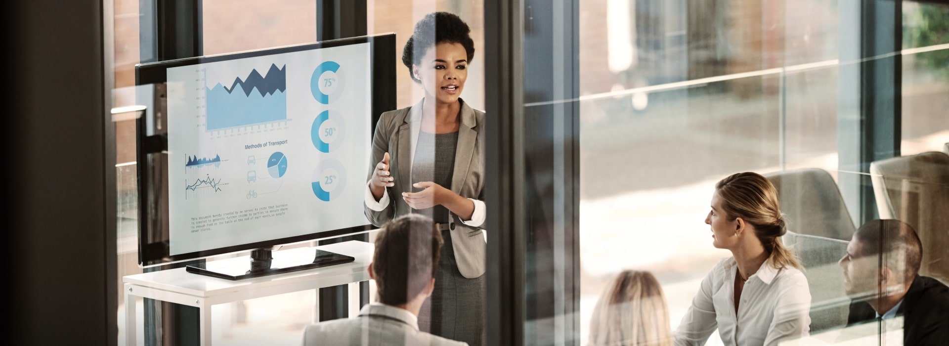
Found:
[[[415,315],[374,302],[363,306],[355,319],[334,319],[307,326],[304,346],[431,345],[467,346],[467,343],[419,331]]]

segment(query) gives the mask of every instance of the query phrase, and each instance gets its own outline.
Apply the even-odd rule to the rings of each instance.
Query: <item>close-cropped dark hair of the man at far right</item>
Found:
[[[862,244],[861,256],[883,256],[883,264],[912,282],[920,271],[922,244],[916,230],[900,220],[872,220],[853,238]]]

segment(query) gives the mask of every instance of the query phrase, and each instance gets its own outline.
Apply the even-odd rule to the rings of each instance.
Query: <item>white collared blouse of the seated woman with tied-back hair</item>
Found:
[[[734,258],[716,264],[676,329],[676,345],[702,345],[718,328],[726,345],[777,345],[807,337],[810,291],[804,273],[792,267],[762,264],[741,291],[735,315]]]

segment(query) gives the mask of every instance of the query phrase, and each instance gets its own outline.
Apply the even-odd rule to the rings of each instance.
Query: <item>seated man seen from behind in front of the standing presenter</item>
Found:
[[[419,308],[435,288],[442,242],[432,220],[419,214],[383,225],[369,264],[377,302],[355,319],[307,326],[304,345],[467,345],[419,331]]]

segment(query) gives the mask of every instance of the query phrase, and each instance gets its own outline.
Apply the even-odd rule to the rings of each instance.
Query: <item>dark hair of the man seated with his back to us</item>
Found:
[[[372,256],[380,302],[401,305],[416,298],[435,277],[443,242],[432,219],[419,214],[382,225]]]

